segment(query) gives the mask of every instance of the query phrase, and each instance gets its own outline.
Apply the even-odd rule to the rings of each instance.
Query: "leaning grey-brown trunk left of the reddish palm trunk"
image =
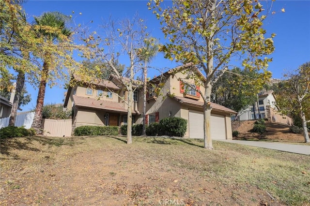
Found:
[[[14,96],[14,101],[11,110],[11,116],[9,121],[9,126],[14,126],[16,121],[17,109],[20,100],[21,91],[23,90],[25,84],[25,73],[23,71],[19,71],[16,80],[16,91]]]

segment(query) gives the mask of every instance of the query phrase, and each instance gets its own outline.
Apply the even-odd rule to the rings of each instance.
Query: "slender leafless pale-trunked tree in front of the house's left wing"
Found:
[[[143,19],[135,15],[132,19],[124,19],[119,23],[110,19],[102,26],[101,31],[104,33],[102,36],[99,36],[98,32],[88,34],[86,31],[81,31],[85,35],[84,42],[91,50],[85,53],[84,57],[89,59],[97,57],[100,58],[100,61],[107,63],[111,74],[128,91],[128,101],[124,100],[127,103],[128,111],[127,144],[132,143],[133,91],[138,88],[138,81],[134,80],[134,77],[141,70],[139,48],[149,35],[146,29]],[[116,64],[120,56],[126,59],[123,74],[118,71]],[[128,80],[125,80],[124,76],[128,77]]]

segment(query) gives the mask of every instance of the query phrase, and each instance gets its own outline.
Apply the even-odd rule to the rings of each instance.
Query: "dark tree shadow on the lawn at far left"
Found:
[[[27,137],[14,137],[1,139],[0,142],[0,153],[3,155],[12,155],[10,150],[30,150],[30,151],[41,151],[38,147],[33,147],[33,143],[39,142],[41,145],[49,145],[60,147],[63,145],[75,146],[83,144],[82,141],[77,141],[77,138],[84,140],[84,137],[46,137],[46,136],[27,136]],[[18,156],[14,156],[18,159]]]

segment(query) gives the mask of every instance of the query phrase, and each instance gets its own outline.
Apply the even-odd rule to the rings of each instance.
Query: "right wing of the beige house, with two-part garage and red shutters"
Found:
[[[203,138],[203,99],[193,88],[200,89],[202,93],[205,89],[202,86],[195,86],[193,75],[198,76],[202,81],[205,80],[200,71],[191,63],[171,69],[150,80],[146,103],[147,125],[168,117],[184,118],[187,120],[185,137]],[[181,80],[191,84],[193,88],[186,87]],[[156,96],[156,93],[160,95]],[[232,139],[231,115],[236,112],[216,103],[211,103],[211,106],[213,107],[211,112],[212,139]],[[142,117],[136,123],[142,123]]]

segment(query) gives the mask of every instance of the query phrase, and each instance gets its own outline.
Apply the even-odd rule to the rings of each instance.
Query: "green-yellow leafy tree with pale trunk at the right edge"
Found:
[[[293,114],[301,119],[305,142],[309,143],[307,123],[310,122],[310,62],[284,76],[286,80],[276,89],[277,105],[284,114]]]

